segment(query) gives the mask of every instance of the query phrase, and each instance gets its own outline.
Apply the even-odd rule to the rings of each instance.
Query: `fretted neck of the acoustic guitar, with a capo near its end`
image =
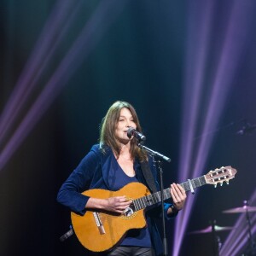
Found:
[[[201,187],[207,183],[205,176],[196,177],[186,182],[180,183],[183,189],[187,192],[189,190]],[[170,188],[164,189],[164,200],[172,198]],[[161,201],[161,192],[158,191],[154,194],[146,195],[133,200],[135,211],[139,211],[146,207],[153,206]]]

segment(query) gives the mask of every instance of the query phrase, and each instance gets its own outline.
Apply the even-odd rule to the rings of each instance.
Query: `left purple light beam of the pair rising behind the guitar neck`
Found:
[[[192,12],[196,12],[197,7],[192,3],[189,5],[192,8]],[[195,9],[194,9],[195,8]],[[183,124],[182,124],[182,143],[180,155],[179,169],[182,170],[179,173],[178,180],[184,181],[187,178],[191,178],[191,161],[192,151],[195,147],[195,128],[198,121],[201,91],[204,79],[204,69],[207,64],[207,51],[209,48],[209,27],[212,20],[212,3],[202,3],[202,8],[205,8],[204,14],[196,15],[198,19],[194,20],[194,16],[189,15],[189,35],[188,35],[188,54],[187,54],[187,67],[185,73],[185,94],[183,104]],[[202,21],[203,20],[203,21]],[[196,26],[197,25],[197,26]],[[198,42],[198,38],[200,41]],[[196,63],[196,65],[195,65]],[[179,249],[182,244],[184,231],[189,220],[189,212],[192,208],[192,199],[188,195],[185,209],[178,214],[175,224],[175,236],[173,244],[172,255],[176,256],[179,253]]]

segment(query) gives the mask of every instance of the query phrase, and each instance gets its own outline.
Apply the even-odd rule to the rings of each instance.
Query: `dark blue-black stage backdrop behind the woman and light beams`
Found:
[[[114,1],[105,2],[115,6]],[[69,230],[70,212],[58,205],[55,198],[61,183],[92,144],[97,143],[102,117],[116,100],[131,102],[137,109],[148,147],[172,158],[170,164],[164,164],[165,186],[177,181],[178,164],[183,157],[180,142],[188,17],[195,9],[199,15],[204,12],[202,2],[194,1],[193,6],[189,1],[119,1],[121,6],[120,2],[124,8],[109,26],[92,29],[88,42],[94,42],[93,47],[87,51],[90,44],[84,43],[79,54],[81,59],[73,60],[70,76],[63,76],[59,83],[61,90],[55,93],[59,85],[52,87],[52,94],[56,95],[54,101],[0,170],[1,255],[84,255],[84,248],[75,236],[63,243],[59,241]],[[230,5],[235,2],[216,1],[214,5],[213,28],[209,33],[212,56],[218,55],[222,42],[219,30],[225,26]],[[253,1],[245,2],[256,8]],[[1,1],[0,113],[11,102],[12,91],[55,3],[57,1]],[[73,1],[73,5],[78,3]],[[0,154],[101,3],[84,1],[81,5],[16,122],[1,138]],[[221,226],[232,226],[238,216],[222,211],[241,207],[242,201],[249,199],[255,189],[255,134],[236,134],[244,125],[242,119],[252,125],[256,123],[255,21],[250,20],[252,29],[247,33],[241,63],[231,79],[218,126],[212,128],[214,140],[204,171],[230,165],[236,167],[238,173],[229,186],[218,189],[205,186],[196,190],[195,206],[190,212],[180,255],[212,255],[211,234],[192,236],[189,231],[207,227],[212,219]],[[96,35],[100,37],[94,41]],[[46,32],[44,37],[47,36]],[[54,40],[51,43],[54,44]],[[211,65],[208,68],[210,73]],[[209,86],[204,84],[206,93]],[[31,119],[30,123],[33,122]],[[189,126],[187,129],[189,131]],[[201,131],[195,136],[199,136],[195,140],[200,142]],[[167,224],[170,252],[174,247],[173,229],[174,221],[171,221]],[[222,232],[220,236],[224,241],[227,233]]]

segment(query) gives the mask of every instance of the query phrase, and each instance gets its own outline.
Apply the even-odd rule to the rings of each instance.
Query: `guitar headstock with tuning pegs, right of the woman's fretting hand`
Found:
[[[231,166],[222,166],[219,169],[210,171],[205,175],[207,184],[212,184],[217,187],[218,183],[222,186],[224,182],[229,183],[230,179],[234,178],[236,175],[236,169]]]

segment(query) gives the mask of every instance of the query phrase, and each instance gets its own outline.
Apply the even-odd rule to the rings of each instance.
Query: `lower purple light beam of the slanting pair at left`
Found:
[[[70,79],[76,69],[96,46],[103,32],[106,32],[108,27],[116,20],[119,13],[124,9],[125,3],[127,1],[102,1],[97,7],[95,13],[84,26],[79,38],[75,40],[73,46],[55,70],[55,73],[49,79],[49,82],[44,86],[43,92],[38,96],[38,99],[34,102],[26,117],[21,121],[14,135],[3,148],[0,154],[0,171],[11,158],[12,154],[14,154],[15,150],[19,148],[20,143],[32,131],[34,125],[37,124],[46,109],[55,100],[55,97],[60,94],[63,87],[67,84],[68,79]]]

